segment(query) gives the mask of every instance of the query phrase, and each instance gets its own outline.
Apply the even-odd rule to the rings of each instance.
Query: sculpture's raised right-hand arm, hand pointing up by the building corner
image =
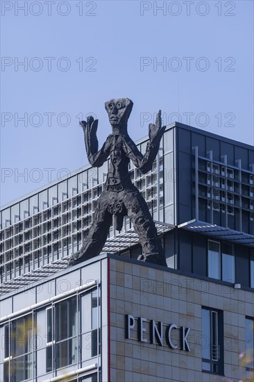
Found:
[[[126,152],[126,156],[133,161],[133,165],[135,165],[142,174],[146,174],[146,172],[149,172],[153,167],[153,161],[160,148],[160,140],[166,128],[166,126],[161,126],[160,113],[159,111],[155,125],[149,124],[149,142],[147,143],[144,156],[128,135],[124,138],[124,151]]]

